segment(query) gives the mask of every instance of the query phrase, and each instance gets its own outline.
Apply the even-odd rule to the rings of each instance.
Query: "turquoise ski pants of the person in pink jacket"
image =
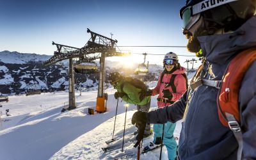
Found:
[[[177,143],[173,136],[175,126],[176,126],[176,123],[173,124],[172,122],[167,122],[166,124],[164,124],[163,143],[168,152],[168,159],[170,160],[174,160],[175,157],[177,156]],[[153,131],[154,131],[154,142],[156,142],[157,137],[162,138],[163,124],[154,124]]]

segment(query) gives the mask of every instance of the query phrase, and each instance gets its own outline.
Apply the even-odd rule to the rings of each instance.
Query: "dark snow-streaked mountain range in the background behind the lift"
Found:
[[[0,95],[20,94],[32,90],[53,92],[68,89],[68,61],[61,61],[49,67],[42,62],[51,56],[20,52],[0,52]],[[96,61],[99,67],[99,61]],[[106,61],[106,76],[109,72],[121,72],[132,76],[138,64],[124,68],[118,61]],[[149,65],[148,81],[157,80],[163,67]],[[75,84],[81,88],[97,86],[99,74],[76,74]]]

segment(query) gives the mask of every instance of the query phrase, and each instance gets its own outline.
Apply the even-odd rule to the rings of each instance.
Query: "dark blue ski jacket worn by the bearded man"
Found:
[[[245,49],[256,49],[256,17],[232,33],[198,37],[205,58],[200,78],[221,80],[228,62]],[[239,66],[237,66],[239,67]],[[237,159],[233,132],[221,124],[217,109],[218,89],[199,86],[188,90],[172,106],[147,113],[151,124],[182,120],[180,159]],[[256,61],[250,66],[239,91],[243,159],[256,159]]]

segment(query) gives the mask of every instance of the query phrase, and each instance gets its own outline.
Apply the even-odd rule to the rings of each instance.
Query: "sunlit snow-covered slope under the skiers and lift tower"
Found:
[[[148,83],[150,87],[156,85]],[[97,90],[75,94],[77,108],[61,113],[67,104],[68,93],[41,93],[31,96],[10,96],[9,102],[2,102],[0,131],[0,159],[111,159],[123,154],[121,150],[104,153],[101,147],[113,134],[116,99],[115,90],[109,88],[107,112],[88,115],[88,108],[95,109]],[[152,97],[151,107],[156,109],[156,97]],[[125,102],[118,103],[115,138],[122,137],[124,131]],[[5,109],[10,109],[6,116]],[[131,125],[132,114],[136,106],[127,108],[125,133],[135,131]],[[177,122],[175,136],[179,136],[180,122]],[[143,144],[152,141],[145,139]],[[134,152],[131,145],[124,147],[124,152]],[[141,159],[159,159],[159,150],[141,155]],[[162,159],[168,159],[163,147]]]

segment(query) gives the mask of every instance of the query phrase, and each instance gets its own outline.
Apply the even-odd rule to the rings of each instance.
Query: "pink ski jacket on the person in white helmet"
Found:
[[[163,74],[163,72],[161,72],[157,82],[157,86],[152,90],[152,96],[158,95],[157,99],[162,99],[163,98],[162,90],[168,89],[173,95],[172,99],[169,99],[169,100],[174,102],[176,100],[179,100],[180,97],[183,95],[183,93],[186,92],[186,79],[184,76],[182,76],[182,74],[184,73],[185,73],[184,67],[180,67],[179,69],[175,70],[172,74],[165,73],[161,83],[161,75]],[[174,79],[174,85],[176,86],[176,93],[173,93],[172,86],[168,86],[167,88],[164,88],[165,84],[170,82],[173,74],[177,74],[177,76]],[[165,104],[164,102],[157,100],[158,108],[163,108],[164,106],[169,106],[169,105],[170,105],[169,102]]]

